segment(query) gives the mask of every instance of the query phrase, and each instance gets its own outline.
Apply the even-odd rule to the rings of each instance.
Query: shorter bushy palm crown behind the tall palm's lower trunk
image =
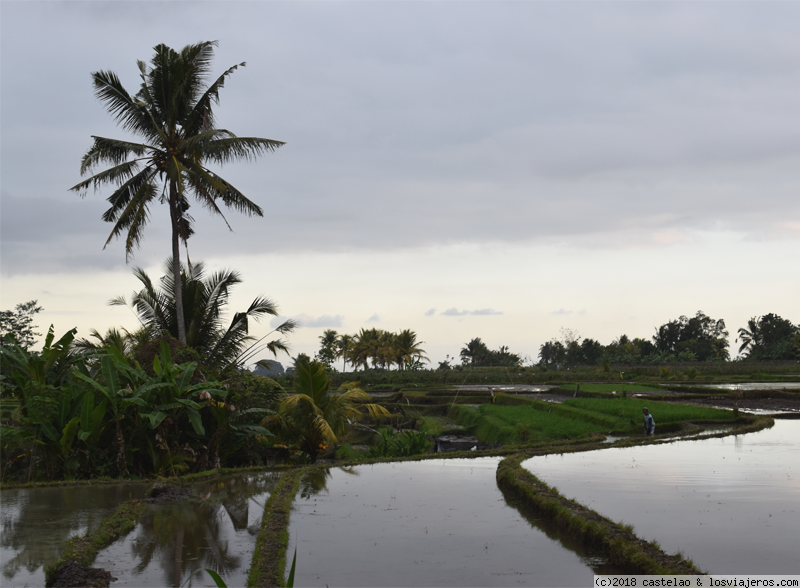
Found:
[[[151,339],[164,335],[174,337],[177,331],[179,313],[173,297],[176,288],[172,281],[172,266],[172,259],[168,259],[164,264],[161,288],[153,284],[143,269],[134,269],[133,273],[143,288],[133,293],[130,302],[124,296],[109,301],[112,306],[125,305],[133,309]],[[226,327],[223,314],[228,297],[231,289],[241,281],[239,272],[234,270],[222,270],[206,276],[203,262],[188,268],[181,266],[181,287],[178,291],[185,301],[183,318],[187,325],[186,344],[200,353],[205,365],[225,368],[244,363],[248,345],[255,340],[249,335],[250,319],[258,321],[266,315],[278,316],[277,305],[269,298],[259,296],[246,311],[234,313]],[[294,328],[294,321],[288,320],[275,331],[287,334]],[[280,339],[264,346],[273,355],[277,355],[278,351],[288,353],[286,343]],[[250,349],[252,347],[250,345]]]

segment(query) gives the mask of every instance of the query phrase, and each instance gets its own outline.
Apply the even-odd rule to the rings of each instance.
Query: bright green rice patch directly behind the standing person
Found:
[[[637,424],[643,420],[642,409],[646,406],[656,421],[656,427],[659,424],[683,421],[732,421],[734,419],[733,412],[730,410],[652,402],[636,398],[570,398],[564,401],[564,405],[606,414],[628,423],[634,421]]]

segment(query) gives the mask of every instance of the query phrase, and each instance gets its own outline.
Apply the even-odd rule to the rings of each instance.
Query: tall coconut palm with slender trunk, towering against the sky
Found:
[[[234,65],[206,86],[216,46],[216,41],[204,41],[187,45],[178,53],[166,45],[157,45],[150,65],[138,62],[142,84],[134,96],[114,72],[94,72],[95,96],[123,129],[144,141],[93,136],[94,144],[81,160],[81,176],[92,174],[101,164],[111,167],[71,188],[83,197],[89,187],[96,191],[108,184],[116,186],[108,197],[111,207],[102,218],[114,223],[106,245],[111,239],[126,235],[126,261],[139,246],[150,207],[156,202],[167,204],[172,226],[172,279],[176,286],[180,283],[180,241],[186,244],[194,233],[194,219],[188,214],[190,195],[223,220],[220,202],[248,216],[264,215],[258,205],[205,163],[224,165],[255,159],[283,145],[270,139],[237,137],[215,127],[212,105],[219,104],[219,90],[228,76],[245,65]],[[183,298],[178,287],[174,300],[177,336],[187,343]]]

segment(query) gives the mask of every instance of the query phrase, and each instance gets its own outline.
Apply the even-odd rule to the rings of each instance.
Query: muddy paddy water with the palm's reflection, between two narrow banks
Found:
[[[244,586],[264,503],[278,474],[234,476],[199,483],[195,496],[146,507],[138,526],[101,551],[95,567],[111,572],[113,586]],[[191,576],[191,578],[190,578]]]

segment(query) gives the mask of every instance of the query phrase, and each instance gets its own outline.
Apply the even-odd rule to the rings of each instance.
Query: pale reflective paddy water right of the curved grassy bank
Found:
[[[656,417],[658,418],[658,417]],[[795,574],[800,421],[703,441],[535,457],[567,497],[718,574]]]

